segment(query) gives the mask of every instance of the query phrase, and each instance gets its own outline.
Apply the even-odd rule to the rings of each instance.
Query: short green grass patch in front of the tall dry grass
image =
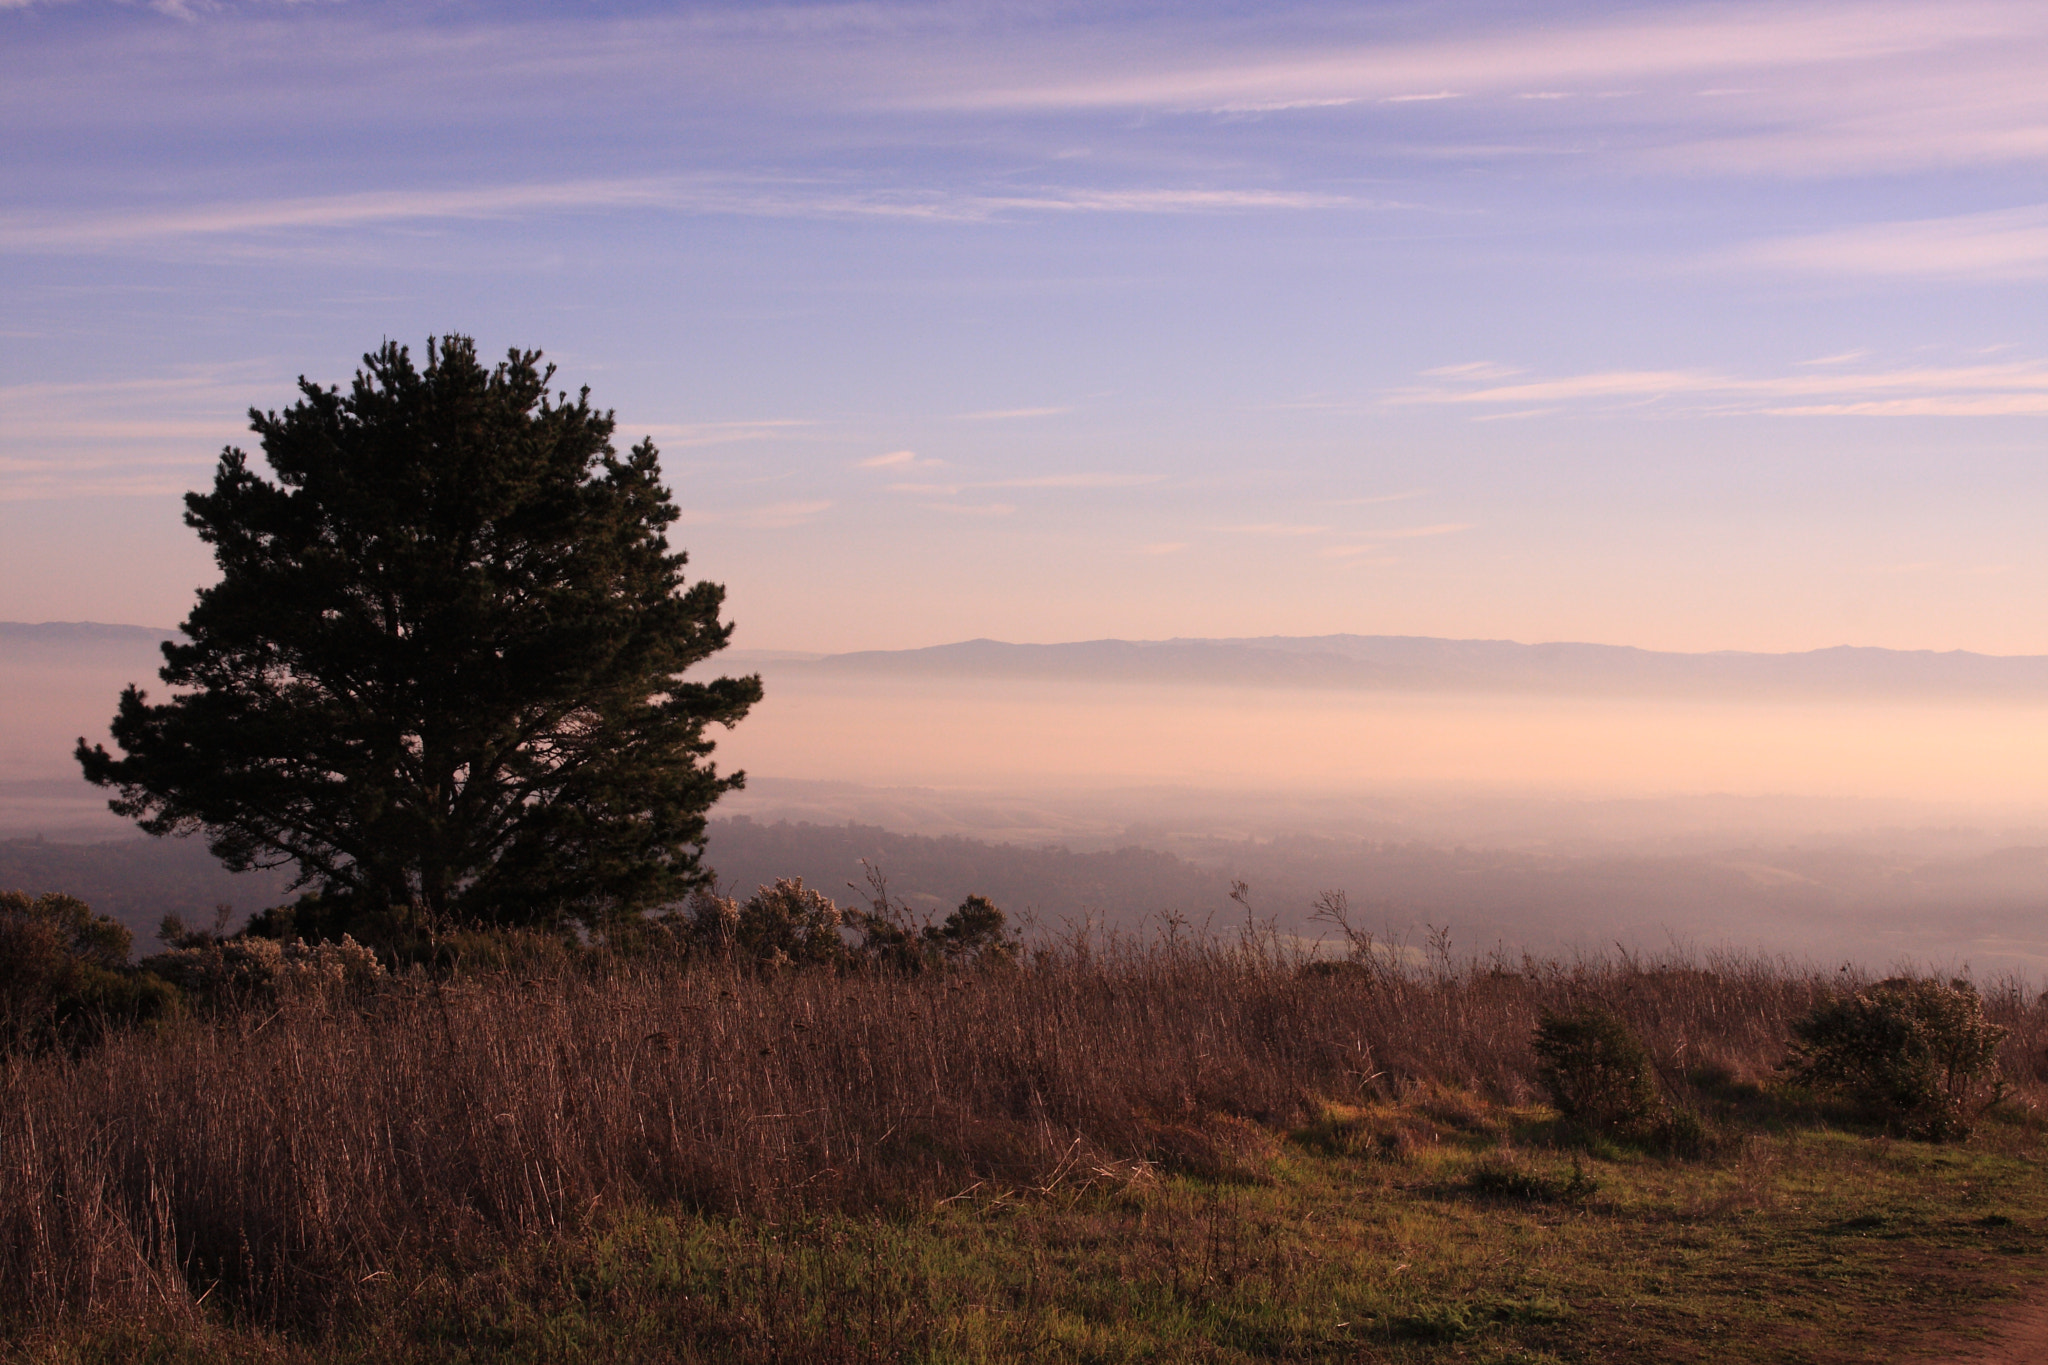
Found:
[[[23,1361],[1872,1361],[2048,1271],[2044,1144],[1751,1134],[1571,1146],[1542,1111],[1331,1107],[1264,1181],[1079,1173],[891,1218],[623,1207],[389,1267],[289,1338],[76,1326]]]

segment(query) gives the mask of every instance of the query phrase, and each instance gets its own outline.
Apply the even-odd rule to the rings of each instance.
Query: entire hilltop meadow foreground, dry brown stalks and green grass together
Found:
[[[1317,958],[877,892],[410,960],[184,931],[172,1007],[0,1068],[0,1357],[1950,1359],[2048,1265],[2019,980],[1915,1015],[1389,952],[1341,898]],[[1851,1015],[1950,1048],[1931,1089],[1815,1068]]]

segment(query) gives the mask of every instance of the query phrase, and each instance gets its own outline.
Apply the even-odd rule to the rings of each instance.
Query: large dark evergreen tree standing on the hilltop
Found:
[[[684,681],[725,647],[725,589],[684,581],[653,442],[492,368],[461,336],[387,342],[348,391],[250,411],[274,481],[221,452],[186,524],[221,577],[129,686],[86,780],[154,835],[414,925],[600,923],[707,882],[705,731],[760,677]]]

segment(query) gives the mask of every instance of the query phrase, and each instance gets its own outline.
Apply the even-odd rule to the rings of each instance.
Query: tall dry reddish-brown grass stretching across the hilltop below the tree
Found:
[[[309,1324],[420,1257],[643,1203],[1231,1179],[1329,1101],[1534,1099],[1538,1021],[1585,1001],[1667,1087],[1761,1076],[1833,986],[1759,960],[1401,970],[1075,935],[954,970],[586,954],[283,993],[4,1064],[0,1314],[217,1295]],[[2038,1046],[2036,1005],[1987,1005]]]

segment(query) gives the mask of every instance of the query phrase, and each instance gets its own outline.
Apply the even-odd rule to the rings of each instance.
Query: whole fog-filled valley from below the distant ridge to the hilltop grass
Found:
[[[0,837],[119,837],[70,743],[104,737],[121,684],[150,679],[145,632],[0,645]],[[1343,645],[1343,667],[1380,667],[1372,649]],[[739,890],[803,874],[844,896],[868,857],[915,905],[987,890],[1047,925],[1233,923],[1243,878],[1288,933],[1341,886],[1374,927],[1450,923],[1466,948],[2048,974],[2048,690],[2030,661],[1855,651],[1845,681],[1839,657],[1610,653],[1626,669],[1534,681],[1493,663],[1362,681],[1327,651],[1309,679],[1257,649],[1108,677],[1057,653],[727,655],[768,698],[719,737],[750,786],[721,802],[711,862]],[[1972,692],[1991,665],[2005,681]],[[1718,681],[1686,686],[1700,669]]]

